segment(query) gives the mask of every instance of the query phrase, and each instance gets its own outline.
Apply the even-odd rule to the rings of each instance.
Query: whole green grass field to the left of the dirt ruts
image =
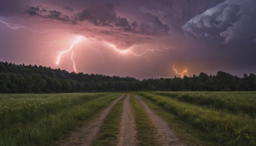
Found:
[[[0,94],[0,145],[51,145],[120,95]]]

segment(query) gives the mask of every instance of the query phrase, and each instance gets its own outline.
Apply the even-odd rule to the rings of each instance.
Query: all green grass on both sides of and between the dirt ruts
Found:
[[[55,144],[81,121],[90,121],[123,94],[0,94],[0,146]],[[153,146],[159,142],[154,124],[134,94],[165,120],[183,143],[215,146],[221,145],[217,141],[221,138],[227,141],[224,145],[256,145],[256,92],[130,94],[139,145]],[[111,109],[94,144],[116,145],[123,102],[124,98]]]

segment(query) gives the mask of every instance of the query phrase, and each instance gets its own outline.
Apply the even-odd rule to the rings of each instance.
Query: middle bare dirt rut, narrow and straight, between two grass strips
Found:
[[[137,131],[136,131],[135,119],[131,111],[129,98],[130,98],[130,95],[125,97],[117,146],[136,146],[137,145],[137,139],[136,139]]]

